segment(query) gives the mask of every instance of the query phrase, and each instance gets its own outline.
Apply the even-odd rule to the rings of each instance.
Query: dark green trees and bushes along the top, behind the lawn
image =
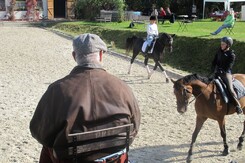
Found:
[[[192,14],[192,5],[197,7],[196,15],[202,18],[203,1],[200,0],[77,0],[76,16],[77,18],[92,20],[99,15],[100,10],[119,11],[119,21],[123,20],[123,10],[141,11],[144,15],[150,15],[153,8],[170,7],[170,10],[176,15]],[[244,2],[231,3],[235,11],[241,10]],[[205,17],[208,17],[212,11],[224,10],[224,3],[206,3]]]

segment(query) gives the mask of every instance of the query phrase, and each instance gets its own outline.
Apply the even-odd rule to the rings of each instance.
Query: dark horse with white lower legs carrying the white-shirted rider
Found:
[[[154,73],[154,70],[157,69],[157,66],[162,70],[163,74],[165,75],[166,82],[169,82],[169,77],[167,76],[164,68],[162,67],[160,63],[160,59],[164,54],[165,48],[168,48],[169,52],[171,53],[173,50],[173,37],[175,34],[170,35],[167,33],[160,34],[160,36],[156,39],[155,45],[153,47],[152,53],[148,53],[145,55],[144,64],[148,73],[148,78],[151,78],[151,75]],[[130,67],[128,70],[128,74],[131,72],[132,64],[136,58],[136,56],[142,52],[142,46],[144,43],[143,38],[139,38],[137,36],[133,36],[131,38],[127,38],[126,40],[126,52],[129,53],[130,50],[133,50],[133,56],[130,61]],[[150,50],[151,51],[151,50]],[[143,52],[142,52],[143,53]],[[152,58],[155,62],[155,66],[153,68],[153,71],[151,72],[148,67],[148,60],[149,58]]]

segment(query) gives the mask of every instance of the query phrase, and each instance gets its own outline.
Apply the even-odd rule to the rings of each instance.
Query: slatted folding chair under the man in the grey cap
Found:
[[[101,130],[94,130],[82,133],[68,135],[68,146],[54,148],[54,154],[57,158],[72,158],[74,163],[86,153],[100,153],[101,150],[111,149],[113,147],[120,150],[112,154],[96,158],[96,163],[128,163],[129,145],[133,137],[130,133],[133,130],[133,124],[126,124],[117,127],[111,127]]]

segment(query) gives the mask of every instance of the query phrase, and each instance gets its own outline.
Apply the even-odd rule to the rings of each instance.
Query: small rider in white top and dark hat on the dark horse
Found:
[[[156,16],[153,15],[150,17],[150,23],[147,26],[147,47],[145,49],[145,53],[150,50],[151,45],[156,37],[158,37],[158,27],[156,24]]]

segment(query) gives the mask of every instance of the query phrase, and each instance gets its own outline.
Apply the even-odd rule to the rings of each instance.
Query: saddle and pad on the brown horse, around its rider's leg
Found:
[[[220,77],[215,78],[214,83],[217,86],[219,92],[221,93],[221,96],[224,99],[225,103],[229,103],[231,100],[231,95],[230,92],[227,90],[226,84]],[[238,100],[245,96],[245,87],[239,80],[233,79],[232,85]]]

